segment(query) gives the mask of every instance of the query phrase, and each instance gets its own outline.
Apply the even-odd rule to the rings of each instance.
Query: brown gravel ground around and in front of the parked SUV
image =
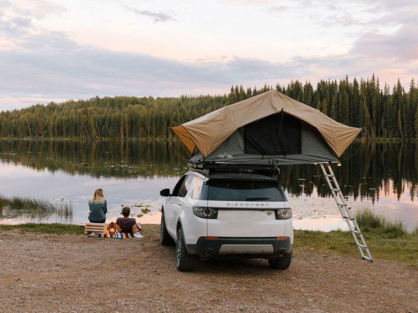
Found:
[[[174,247],[144,239],[0,231],[4,312],[418,312],[418,269],[332,251],[266,260],[209,260],[175,269]],[[351,249],[351,248],[348,248]]]

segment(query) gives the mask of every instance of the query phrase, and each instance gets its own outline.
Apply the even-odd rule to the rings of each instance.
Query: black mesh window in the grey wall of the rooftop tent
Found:
[[[279,113],[245,125],[244,150],[262,156],[301,154],[300,120]]]

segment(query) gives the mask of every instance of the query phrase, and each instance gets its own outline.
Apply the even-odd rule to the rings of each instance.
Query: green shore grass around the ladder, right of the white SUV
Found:
[[[376,215],[370,209],[356,214],[357,223],[374,259],[389,259],[418,265],[418,227],[408,232],[402,222]],[[348,231],[295,230],[295,249],[332,250],[356,255],[357,246]]]

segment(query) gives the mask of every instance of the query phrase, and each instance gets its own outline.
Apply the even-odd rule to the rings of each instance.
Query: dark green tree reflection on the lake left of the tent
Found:
[[[187,170],[187,157],[179,142],[0,141],[0,159],[5,162],[95,178],[178,176]]]

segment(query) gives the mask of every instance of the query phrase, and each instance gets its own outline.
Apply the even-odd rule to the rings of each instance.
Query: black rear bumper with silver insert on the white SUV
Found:
[[[204,257],[216,255],[246,255],[252,257],[271,258],[290,253],[292,245],[290,238],[233,238],[217,237],[208,239],[201,237],[196,244],[186,245],[189,254],[202,255]]]

